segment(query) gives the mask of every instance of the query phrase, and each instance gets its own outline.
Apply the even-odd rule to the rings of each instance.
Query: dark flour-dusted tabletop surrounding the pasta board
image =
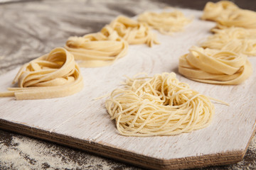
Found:
[[[71,35],[99,31],[119,15],[179,6],[202,10],[203,0],[0,1],[0,74],[63,46]],[[256,1],[237,0],[256,10]],[[0,169],[141,169],[78,149],[0,130]],[[238,164],[203,169],[256,169],[256,137]]]

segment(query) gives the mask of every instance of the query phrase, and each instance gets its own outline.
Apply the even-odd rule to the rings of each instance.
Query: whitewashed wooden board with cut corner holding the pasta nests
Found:
[[[252,76],[238,86],[191,81],[178,74],[178,57],[210,35],[215,23],[201,21],[201,11],[182,9],[193,22],[182,33],[161,35],[161,45],[130,45],[128,54],[108,67],[81,68],[84,89],[64,98],[16,101],[0,98],[0,128],[112,157],[150,169],[188,169],[232,164],[244,156],[255,131],[256,57],[250,57]],[[18,68],[1,75],[6,91]],[[213,122],[202,130],[176,136],[124,137],[119,135],[105,109],[105,98],[124,75],[138,72],[153,76],[176,72],[180,81],[201,94],[230,104],[214,103]]]

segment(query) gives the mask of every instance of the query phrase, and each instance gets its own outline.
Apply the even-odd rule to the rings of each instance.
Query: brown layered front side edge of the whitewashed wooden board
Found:
[[[184,157],[177,159],[156,159],[146,157],[142,154],[124,151],[115,147],[101,145],[99,143],[87,140],[81,140],[68,135],[60,135],[55,132],[33,128],[28,125],[13,123],[9,120],[0,119],[0,128],[3,130],[16,132],[21,135],[35,137],[40,140],[47,140],[76,149],[82,149],[86,152],[92,152],[99,156],[109,157],[128,164],[134,164],[149,169],[192,169],[206,166],[220,166],[225,164],[234,164],[240,162],[245,156],[247,147],[252,140],[248,141],[245,150],[237,150],[232,152],[222,152],[218,154],[203,154],[193,157]],[[255,128],[256,130],[256,128]],[[254,132],[255,132],[254,130]]]

